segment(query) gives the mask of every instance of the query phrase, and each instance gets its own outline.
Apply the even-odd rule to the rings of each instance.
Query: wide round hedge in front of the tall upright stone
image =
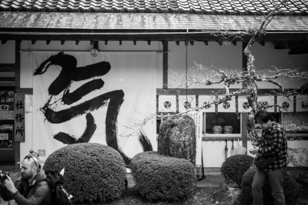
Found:
[[[186,159],[143,152],[130,165],[135,189],[150,201],[183,201],[196,193],[195,168]]]

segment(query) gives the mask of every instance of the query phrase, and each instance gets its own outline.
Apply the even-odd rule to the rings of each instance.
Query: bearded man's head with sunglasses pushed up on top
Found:
[[[38,169],[40,168],[40,164],[36,157],[34,156],[26,156],[20,164],[22,165],[21,174],[23,178],[28,180],[32,179],[36,176]]]

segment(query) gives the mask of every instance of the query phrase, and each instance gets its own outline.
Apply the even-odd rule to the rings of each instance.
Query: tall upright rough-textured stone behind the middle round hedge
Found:
[[[158,135],[158,153],[187,159],[196,165],[196,125],[191,117],[163,121]]]

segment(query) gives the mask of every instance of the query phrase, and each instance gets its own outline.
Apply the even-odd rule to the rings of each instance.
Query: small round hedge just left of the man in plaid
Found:
[[[244,154],[230,156],[222,163],[221,174],[227,182],[232,180],[241,188],[242,177],[253,162],[252,156]]]

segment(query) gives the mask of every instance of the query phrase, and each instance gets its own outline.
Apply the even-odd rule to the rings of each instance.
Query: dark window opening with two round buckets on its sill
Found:
[[[241,114],[230,112],[204,113],[205,135],[241,134]]]

